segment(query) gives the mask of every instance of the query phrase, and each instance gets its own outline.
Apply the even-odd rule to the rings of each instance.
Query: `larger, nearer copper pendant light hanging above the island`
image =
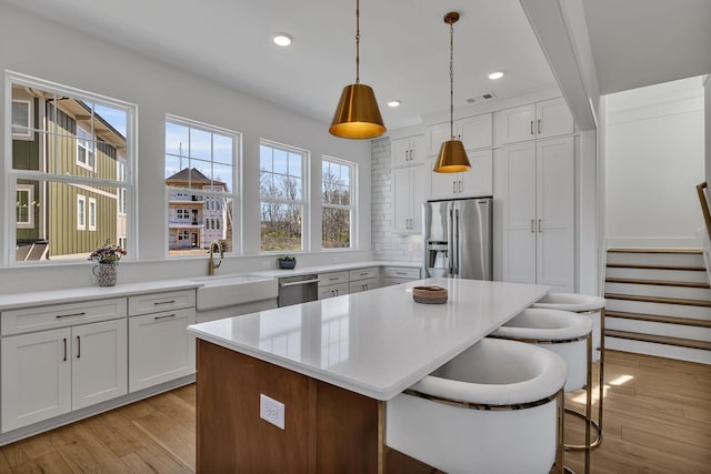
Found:
[[[360,83],[360,0],[356,0],[356,83],[341,93],[329,132],[343,139],[374,139],[385,133],[375,94]]]

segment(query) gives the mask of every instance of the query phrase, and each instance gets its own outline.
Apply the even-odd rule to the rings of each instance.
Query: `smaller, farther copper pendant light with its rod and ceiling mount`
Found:
[[[459,21],[459,13],[450,11],[444,16],[449,24],[449,130],[450,140],[442,143],[440,154],[434,162],[437,173],[459,173],[471,170],[469,158],[461,140],[454,140],[454,23]]]

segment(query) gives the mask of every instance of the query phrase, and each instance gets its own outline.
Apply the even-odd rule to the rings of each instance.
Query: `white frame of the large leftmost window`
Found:
[[[121,238],[127,239],[130,248],[126,249],[128,251],[127,260],[138,260],[138,244],[136,239],[131,236],[137,235],[138,229],[138,210],[137,210],[137,192],[138,192],[138,179],[134,172],[136,162],[138,157],[138,128],[137,128],[137,119],[138,119],[138,105],[126,102],[119,99],[97,94],[93,92],[89,92],[86,90],[72,88],[70,85],[64,85],[51,81],[47,81],[44,79],[31,77],[28,74],[23,74],[16,71],[6,70],[4,71],[4,140],[3,140],[3,150],[6,157],[13,157],[13,140],[12,140],[12,98],[14,95],[16,88],[27,89],[27,90],[38,90],[44,93],[43,97],[36,98],[32,102],[40,101],[39,110],[40,112],[44,110],[46,103],[49,103],[52,100],[52,95],[54,98],[68,98],[73,101],[83,102],[87,104],[93,104],[97,108],[111,109],[118,113],[121,113],[126,118],[126,122],[121,123],[121,131],[118,132],[118,135],[121,139],[120,148],[122,149],[121,158],[126,161],[126,180],[113,179],[112,177],[101,177],[96,173],[82,174],[78,175],[73,172],[68,172],[68,170],[59,170],[56,169],[57,160],[51,161],[47,152],[44,151],[44,147],[40,147],[40,164],[39,168],[34,169],[23,169],[23,168],[14,168],[12,159],[7,160],[6,165],[0,167],[1,179],[6,183],[4,192],[2,193],[2,199],[6,202],[3,209],[3,219],[6,223],[4,238],[1,242],[2,244],[2,256],[0,261],[0,266],[32,266],[32,265],[61,265],[61,264],[77,264],[86,261],[86,256],[89,255],[89,250],[80,251],[79,253],[60,253],[56,255],[54,259],[43,259],[38,261],[22,261],[17,260],[16,258],[16,246],[17,246],[17,231],[22,229],[17,226],[17,211],[16,211],[16,189],[17,185],[23,183],[26,181],[36,182],[36,186],[39,185],[39,191],[36,189],[34,200],[38,206],[42,206],[43,203],[47,203],[49,206],[54,205],[53,201],[49,199],[49,186],[50,185],[70,185],[80,190],[93,192],[97,191],[102,195],[108,195],[111,198],[117,198],[113,192],[104,192],[101,188],[111,188],[113,190],[122,190],[127,191],[127,209],[126,215],[122,216],[122,230]],[[20,97],[19,100],[23,98]],[[37,120],[34,114],[37,113],[36,105],[32,105],[33,110],[33,120]],[[97,120],[94,115],[102,117],[102,112],[99,113],[91,110],[92,120]],[[74,119],[74,118],[73,118]],[[74,119],[76,120],[76,119]],[[124,125],[124,129],[123,129]],[[71,138],[71,135],[62,134],[57,130],[41,127],[40,129],[32,129],[33,137],[32,140],[46,140],[46,138]],[[39,137],[38,137],[39,133]],[[96,140],[96,137],[93,138]],[[116,148],[116,143],[107,142],[109,147]],[[72,157],[71,152],[64,154],[70,161],[68,164],[74,163],[74,157]],[[94,155],[96,163],[96,155]],[[48,201],[48,202],[46,202]],[[117,199],[118,201],[118,199]],[[68,203],[69,204],[69,203]],[[77,211],[76,200],[72,204],[74,210]],[[39,238],[47,239],[48,229],[48,220],[49,214],[47,214],[48,209],[50,208],[41,208],[40,212],[44,212],[44,215],[40,215],[39,220],[36,218],[36,226],[39,231]],[[86,219],[86,214],[84,214]],[[98,223],[98,221],[97,221]],[[62,224],[66,230],[70,232],[79,232],[77,229],[76,216],[72,220],[66,220]],[[86,221],[84,221],[86,224]],[[79,238],[79,235],[77,235]],[[118,239],[119,235],[116,235]]]

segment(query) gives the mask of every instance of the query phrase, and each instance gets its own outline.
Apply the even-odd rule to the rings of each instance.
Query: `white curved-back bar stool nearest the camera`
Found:
[[[484,339],[387,402],[385,444],[450,474],[562,471],[565,362]]]

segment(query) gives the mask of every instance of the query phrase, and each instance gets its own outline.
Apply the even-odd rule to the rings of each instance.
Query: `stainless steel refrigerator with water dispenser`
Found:
[[[423,205],[427,275],[491,280],[492,199],[429,201]]]

